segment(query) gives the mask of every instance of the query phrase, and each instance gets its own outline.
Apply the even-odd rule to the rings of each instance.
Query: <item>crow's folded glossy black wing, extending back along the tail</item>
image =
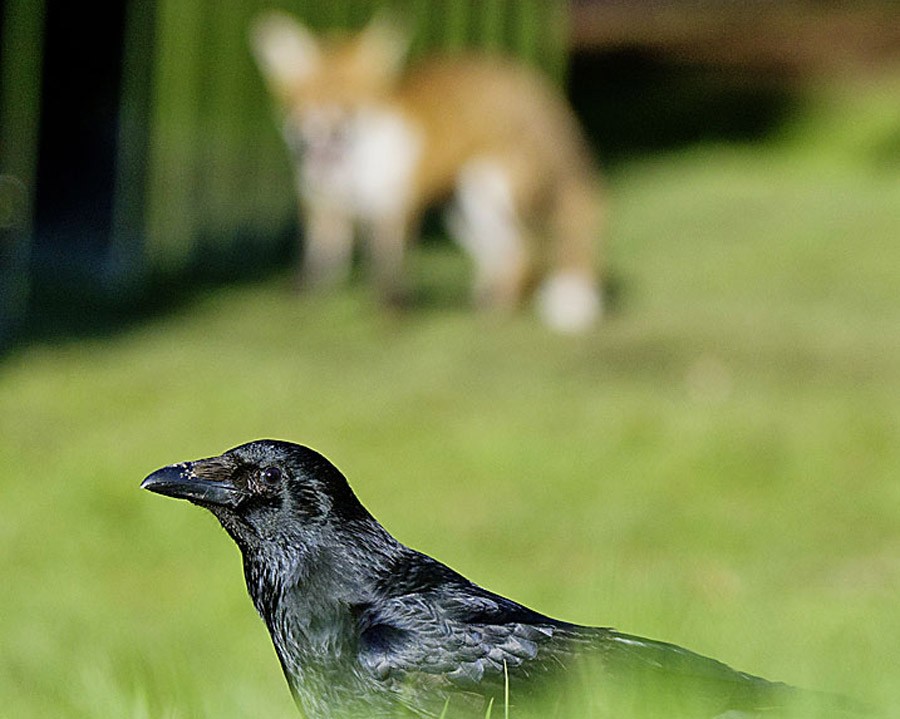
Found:
[[[598,687],[675,696],[709,716],[793,693],[673,644],[551,619],[437,563],[415,574],[395,575],[394,591],[358,612],[360,664],[382,681],[497,697],[508,680],[521,696],[583,669]]]

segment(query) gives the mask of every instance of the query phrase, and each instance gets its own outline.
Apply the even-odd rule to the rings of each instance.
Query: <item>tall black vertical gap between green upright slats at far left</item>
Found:
[[[48,2],[33,267],[90,285],[113,230],[125,3],[102,13]]]

